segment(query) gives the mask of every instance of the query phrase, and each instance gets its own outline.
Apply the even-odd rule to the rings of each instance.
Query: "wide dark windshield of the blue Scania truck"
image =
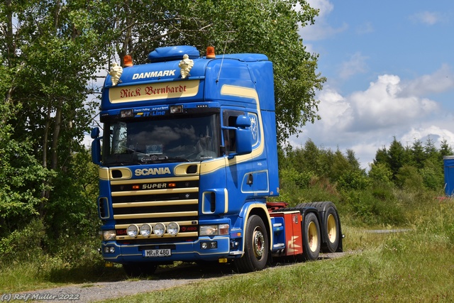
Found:
[[[104,128],[104,165],[187,162],[216,158],[216,114],[177,119],[114,121]],[[106,134],[108,131],[108,134]]]

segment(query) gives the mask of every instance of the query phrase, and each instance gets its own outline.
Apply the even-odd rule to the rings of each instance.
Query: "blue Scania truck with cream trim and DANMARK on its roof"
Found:
[[[157,48],[149,62],[114,66],[100,129],[101,253],[129,275],[187,261],[315,260],[342,251],[331,202],[287,207],[279,195],[272,62],[261,54]],[[102,144],[101,144],[102,143]]]

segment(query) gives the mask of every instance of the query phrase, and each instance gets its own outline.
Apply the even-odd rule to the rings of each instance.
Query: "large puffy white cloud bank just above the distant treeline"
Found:
[[[404,145],[430,137],[437,146],[443,139],[453,146],[450,130],[454,129],[454,117],[423,96],[433,92],[428,87],[447,70],[443,66],[431,75],[406,81],[397,75],[380,75],[365,90],[345,96],[327,86],[317,96],[321,120],[305,126],[302,135],[292,137],[290,144],[301,146],[310,138],[323,148],[352,149],[363,168],[394,136]],[[447,89],[450,86],[443,84],[436,92]]]

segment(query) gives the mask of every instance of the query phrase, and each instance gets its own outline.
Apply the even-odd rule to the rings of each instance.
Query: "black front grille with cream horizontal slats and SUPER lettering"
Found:
[[[111,199],[116,221],[117,240],[159,243],[165,238],[194,238],[199,224],[199,177],[182,177],[182,180],[114,180],[111,181]],[[126,233],[129,225],[154,226],[157,223],[176,222],[180,226],[177,236],[167,233],[162,237]]]

